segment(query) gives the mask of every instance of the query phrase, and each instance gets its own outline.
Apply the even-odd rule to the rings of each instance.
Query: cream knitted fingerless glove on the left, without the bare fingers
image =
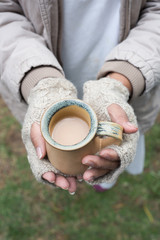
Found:
[[[42,175],[53,171],[58,173],[47,158],[40,160],[30,138],[31,125],[40,123],[45,109],[51,104],[63,99],[77,98],[74,85],[66,79],[46,78],[41,80],[32,90],[29,96],[29,106],[22,128],[22,139],[28,153],[28,161],[35,178],[39,182],[46,182]]]

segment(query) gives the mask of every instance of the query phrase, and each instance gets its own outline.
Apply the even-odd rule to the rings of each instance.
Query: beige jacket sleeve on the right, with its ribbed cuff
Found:
[[[146,1],[137,25],[107,56],[98,78],[119,72],[132,83],[133,97],[160,84],[160,1]]]

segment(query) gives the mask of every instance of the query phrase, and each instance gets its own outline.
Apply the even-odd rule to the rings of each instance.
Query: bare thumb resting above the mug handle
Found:
[[[138,128],[129,122],[127,114],[118,104],[111,104],[108,108],[108,113],[112,122],[115,122],[123,127],[124,133],[135,133]]]

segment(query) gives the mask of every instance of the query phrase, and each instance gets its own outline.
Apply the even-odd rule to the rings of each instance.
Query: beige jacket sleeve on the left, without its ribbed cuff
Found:
[[[17,0],[0,1],[0,94],[17,119],[22,122],[26,106],[20,83],[33,67],[50,66],[63,70],[44,38],[36,34]]]

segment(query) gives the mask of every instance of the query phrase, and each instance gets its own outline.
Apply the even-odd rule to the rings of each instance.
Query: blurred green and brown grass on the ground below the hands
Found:
[[[159,240],[159,122],[146,136],[142,175],[124,173],[102,194],[82,183],[70,196],[35,181],[20,126],[0,100],[0,240]]]

